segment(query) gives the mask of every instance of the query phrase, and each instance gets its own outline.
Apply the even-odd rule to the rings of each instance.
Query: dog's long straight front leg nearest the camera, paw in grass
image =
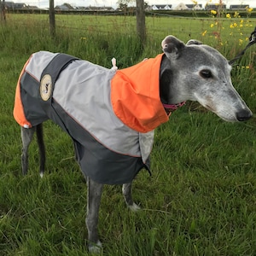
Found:
[[[102,243],[99,240],[97,224],[99,208],[102,198],[103,184],[96,183],[87,177],[87,216],[86,226],[88,230],[89,252],[101,253]]]

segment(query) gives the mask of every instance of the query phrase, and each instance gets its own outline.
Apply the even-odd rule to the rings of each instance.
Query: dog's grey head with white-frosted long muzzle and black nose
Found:
[[[218,50],[173,36],[162,41],[165,53],[160,69],[161,101],[176,104],[186,100],[201,105],[227,121],[249,119],[252,112],[233,87],[231,66]]]

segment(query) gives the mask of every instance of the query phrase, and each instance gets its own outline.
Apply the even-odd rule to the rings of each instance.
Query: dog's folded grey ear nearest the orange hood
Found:
[[[162,41],[162,49],[169,59],[177,59],[185,44],[173,36],[167,36]]]

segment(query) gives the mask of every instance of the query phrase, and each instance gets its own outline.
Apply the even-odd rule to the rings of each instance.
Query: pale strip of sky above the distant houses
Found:
[[[39,8],[49,7],[49,1],[47,0],[9,0],[14,3],[26,3],[29,5],[36,5]],[[55,5],[61,5],[62,3],[70,3],[73,6],[113,6],[117,7],[118,0],[54,0]],[[191,4],[192,0],[144,0],[149,5],[153,4],[172,4],[172,8],[175,8],[179,3]],[[218,3],[218,0],[197,0],[197,3],[201,3],[205,6],[206,3]],[[134,0],[135,3],[135,0]],[[248,4],[250,7],[256,8],[256,0],[223,0],[223,3],[229,8],[230,4]]]

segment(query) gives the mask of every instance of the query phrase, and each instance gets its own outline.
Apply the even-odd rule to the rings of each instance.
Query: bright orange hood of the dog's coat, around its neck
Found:
[[[162,57],[160,54],[120,69],[111,80],[113,112],[135,131],[152,131],[169,119],[160,101]]]

